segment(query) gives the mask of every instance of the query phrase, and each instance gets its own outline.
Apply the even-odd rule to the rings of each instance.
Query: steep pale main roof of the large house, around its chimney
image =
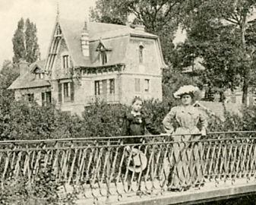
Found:
[[[107,66],[123,63],[130,36],[157,38],[156,35],[146,32],[137,32],[128,26],[89,22],[87,24],[90,42],[89,58],[84,57],[81,49],[81,32],[84,27],[84,21],[58,18],[57,23],[62,29],[75,68],[99,66],[96,63],[96,60],[99,58],[99,52],[96,51],[96,48],[99,46],[100,42],[108,49],[111,48],[112,50],[112,52],[109,52],[109,59],[105,65]]]

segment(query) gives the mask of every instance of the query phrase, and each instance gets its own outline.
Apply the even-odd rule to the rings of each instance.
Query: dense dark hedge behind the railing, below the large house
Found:
[[[8,90],[11,82],[17,77],[16,65],[10,61],[0,71],[1,107],[0,139],[1,140],[36,140],[69,137],[103,137],[119,136],[122,118],[131,109],[122,104],[96,102],[85,107],[82,116],[68,115],[55,109],[55,105],[38,106],[36,103],[14,100],[14,91]],[[200,80],[181,77],[179,72],[163,71],[163,102],[147,100],[144,111],[161,128],[164,116],[179,101],[173,98],[174,93],[184,84],[200,84]],[[173,77],[175,76],[175,77]],[[200,99],[200,96],[198,96]],[[209,119],[209,131],[249,131],[255,129],[256,108],[245,107],[242,117],[226,113],[225,123],[217,118]]]

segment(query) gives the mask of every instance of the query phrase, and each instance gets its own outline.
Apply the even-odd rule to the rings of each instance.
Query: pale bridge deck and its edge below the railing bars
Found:
[[[202,188],[191,188],[188,191],[173,192],[173,191],[153,191],[147,192],[142,196],[137,196],[134,192],[122,194],[120,201],[117,196],[98,197],[97,201],[93,198],[85,199],[82,195],[76,201],[77,204],[128,204],[128,205],[167,205],[167,204],[197,204],[214,200],[229,199],[232,197],[241,197],[249,194],[256,194],[256,181],[255,179],[248,180],[240,178],[233,181],[219,181],[219,183],[207,182]],[[71,191],[71,187],[69,188]]]

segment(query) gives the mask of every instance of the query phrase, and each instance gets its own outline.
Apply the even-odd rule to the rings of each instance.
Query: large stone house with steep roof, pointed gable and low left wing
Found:
[[[102,24],[57,17],[46,61],[28,66],[9,89],[15,99],[62,111],[83,112],[96,100],[131,104],[134,96],[162,99],[160,40],[144,26]]]

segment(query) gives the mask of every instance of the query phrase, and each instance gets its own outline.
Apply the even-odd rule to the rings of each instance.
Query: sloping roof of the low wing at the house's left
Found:
[[[32,74],[34,68],[43,68],[46,60],[36,61],[30,65],[29,70],[23,76],[17,77],[8,89],[24,89],[30,87],[49,87],[49,81],[36,79],[36,74]]]

